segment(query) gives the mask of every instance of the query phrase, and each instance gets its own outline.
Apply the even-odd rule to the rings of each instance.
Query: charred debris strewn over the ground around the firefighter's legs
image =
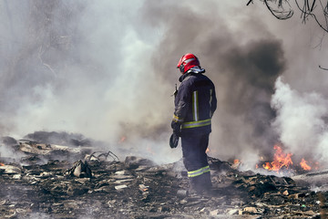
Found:
[[[263,175],[239,171],[240,161],[209,157],[214,188],[210,195],[198,195],[189,193],[182,161],[158,165],[127,156],[120,162],[113,152],[93,152],[89,146],[77,150],[32,141],[17,141],[14,146],[26,156],[23,164],[0,158],[2,218],[326,216],[328,193],[312,191],[308,180],[314,175],[324,178],[326,172],[292,178]],[[57,155],[58,150],[78,157],[77,162],[36,162]]]

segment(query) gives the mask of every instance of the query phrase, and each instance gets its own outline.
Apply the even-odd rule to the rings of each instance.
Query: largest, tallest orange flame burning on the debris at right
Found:
[[[288,169],[292,165],[292,153],[284,153],[282,148],[278,145],[273,147],[276,152],[274,153],[273,162],[265,162],[263,168],[268,171],[279,172],[282,167]]]

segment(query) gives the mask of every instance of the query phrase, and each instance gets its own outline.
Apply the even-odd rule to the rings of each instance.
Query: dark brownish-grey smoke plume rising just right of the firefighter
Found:
[[[153,26],[161,26],[164,21],[167,24],[169,34],[163,37],[153,56],[160,76],[176,80],[179,75],[168,76],[168,67],[187,52],[196,54],[216,85],[218,96],[211,154],[219,157],[235,154],[246,160],[253,151],[265,153],[277,139],[271,128],[275,112],[270,101],[274,81],[285,68],[282,41],[272,36],[261,22],[250,27],[261,37],[241,40],[250,37],[249,31],[227,26],[227,20],[217,13],[220,4],[211,3],[206,13],[201,8],[171,4],[148,1],[143,8],[147,11],[145,21]]]

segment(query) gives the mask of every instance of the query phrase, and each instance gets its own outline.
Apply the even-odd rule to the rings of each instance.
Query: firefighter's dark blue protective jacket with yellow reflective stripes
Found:
[[[190,70],[179,78],[181,82],[175,98],[173,131],[184,134],[205,134],[211,131],[211,117],[217,108],[215,87],[205,72]]]

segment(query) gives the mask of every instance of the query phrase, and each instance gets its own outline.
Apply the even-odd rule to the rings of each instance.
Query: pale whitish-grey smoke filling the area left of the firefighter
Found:
[[[141,3],[4,1],[2,135],[81,133],[112,151],[124,137],[131,152],[172,153],[163,145],[171,90],[150,68],[154,39],[135,21]]]

